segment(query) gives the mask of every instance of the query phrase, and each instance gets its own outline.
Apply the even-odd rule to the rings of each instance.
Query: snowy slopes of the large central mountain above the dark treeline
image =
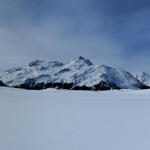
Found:
[[[1,73],[0,80],[10,87],[33,82],[33,80],[36,84],[73,83],[76,86],[88,87],[93,87],[103,80],[109,85],[122,89],[139,89],[145,86],[142,80],[140,82],[123,69],[94,65],[83,57],[67,63],[35,60],[26,67],[15,67]]]

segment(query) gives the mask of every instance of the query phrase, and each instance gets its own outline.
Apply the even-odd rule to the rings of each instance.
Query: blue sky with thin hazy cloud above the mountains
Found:
[[[0,70],[33,59],[150,73],[148,0],[0,0]]]

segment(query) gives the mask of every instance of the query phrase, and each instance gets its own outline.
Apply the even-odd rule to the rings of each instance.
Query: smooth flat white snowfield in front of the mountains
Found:
[[[0,150],[149,150],[150,90],[0,87]]]

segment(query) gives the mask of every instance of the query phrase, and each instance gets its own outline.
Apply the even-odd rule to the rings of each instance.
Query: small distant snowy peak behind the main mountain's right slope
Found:
[[[145,85],[150,86],[150,75],[148,73],[136,72],[133,73],[133,76]]]

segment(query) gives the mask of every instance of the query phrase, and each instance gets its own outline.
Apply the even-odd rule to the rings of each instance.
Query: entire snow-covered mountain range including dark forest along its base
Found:
[[[0,81],[9,87],[25,89],[147,89],[150,75],[94,65],[90,60],[78,57],[67,63],[35,60],[26,67],[15,67],[0,73]]]

